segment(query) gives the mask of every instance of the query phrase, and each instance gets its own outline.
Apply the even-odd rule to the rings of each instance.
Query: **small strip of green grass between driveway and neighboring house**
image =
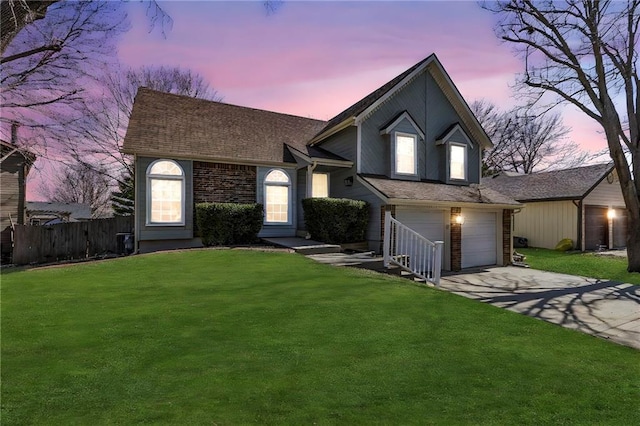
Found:
[[[598,253],[517,249],[534,269],[640,285],[640,274],[627,272],[627,258]]]

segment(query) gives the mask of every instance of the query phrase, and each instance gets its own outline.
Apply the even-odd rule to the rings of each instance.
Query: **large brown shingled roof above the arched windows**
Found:
[[[123,152],[141,156],[277,164],[284,144],[306,152],[325,121],[140,88]]]

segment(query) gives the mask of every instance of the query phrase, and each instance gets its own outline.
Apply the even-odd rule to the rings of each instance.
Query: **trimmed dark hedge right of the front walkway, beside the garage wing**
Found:
[[[307,231],[314,240],[330,244],[363,241],[369,225],[369,203],[345,198],[302,200]]]

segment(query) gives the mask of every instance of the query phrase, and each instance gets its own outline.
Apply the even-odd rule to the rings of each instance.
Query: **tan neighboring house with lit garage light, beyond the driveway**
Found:
[[[552,249],[563,238],[582,251],[626,247],[627,213],[611,163],[500,174],[483,184],[526,206],[514,216],[513,233],[532,247]]]

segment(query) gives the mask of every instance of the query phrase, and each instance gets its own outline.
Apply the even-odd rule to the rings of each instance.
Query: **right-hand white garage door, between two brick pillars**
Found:
[[[496,213],[463,210],[462,267],[497,263]]]

